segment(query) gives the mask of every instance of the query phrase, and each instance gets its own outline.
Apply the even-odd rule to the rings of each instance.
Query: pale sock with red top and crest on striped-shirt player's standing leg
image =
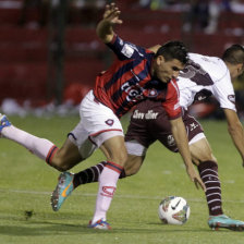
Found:
[[[122,167],[114,162],[108,161],[106,163],[99,178],[96,209],[91,224],[101,218],[106,220],[106,213],[112,202],[113,194],[117,190],[117,182],[122,170]]]

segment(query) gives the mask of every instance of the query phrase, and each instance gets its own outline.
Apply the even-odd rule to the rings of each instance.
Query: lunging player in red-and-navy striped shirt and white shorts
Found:
[[[172,125],[172,133],[181,152],[190,179],[205,188],[195,171],[181,117],[176,76],[187,61],[187,52],[180,41],[161,46],[156,53],[122,40],[113,25],[122,24],[114,3],[106,5],[103,19],[97,25],[98,37],[115,53],[115,62],[96,77],[95,88],[81,102],[81,122],[69,134],[63,147],[29,135],[11,125],[5,115],[0,118],[0,133],[15,141],[61,171],[71,169],[100,148],[106,166],[99,176],[99,187],[94,217],[94,229],[111,229],[106,215],[111,204],[119,175],[127,159],[123,130],[119,119],[146,97],[161,102]],[[90,144],[90,141],[93,144]],[[66,181],[62,178],[63,186]],[[63,194],[68,194],[64,190]],[[58,195],[53,195],[52,203]],[[56,205],[53,205],[56,208]]]

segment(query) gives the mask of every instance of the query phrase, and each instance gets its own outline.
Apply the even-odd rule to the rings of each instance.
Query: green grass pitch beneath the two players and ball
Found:
[[[16,126],[61,146],[78,118],[11,117],[10,120]],[[202,124],[219,160],[224,212],[244,220],[244,169],[227,133],[225,121],[203,121]],[[77,172],[101,159],[103,156],[97,151],[72,171]],[[108,221],[113,228],[110,232],[87,229],[95,207],[97,183],[76,188],[61,210],[53,212],[49,202],[58,171],[20,145],[3,138],[0,139],[0,161],[1,244],[244,243],[243,232],[211,231],[208,228],[203,191],[197,191],[190,182],[180,156],[159,143],[148,150],[136,175],[119,182],[108,212]],[[191,216],[184,225],[164,225],[159,221],[158,205],[168,195],[187,199]]]

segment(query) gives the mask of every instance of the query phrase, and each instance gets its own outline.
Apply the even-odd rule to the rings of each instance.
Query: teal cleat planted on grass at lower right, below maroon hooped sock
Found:
[[[231,219],[224,215],[210,216],[208,220],[208,225],[216,231],[219,228],[225,228],[232,231],[244,231],[243,221]]]

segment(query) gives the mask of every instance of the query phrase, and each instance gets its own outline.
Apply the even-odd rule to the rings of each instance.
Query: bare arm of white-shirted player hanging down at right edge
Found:
[[[244,167],[244,131],[242,123],[235,111],[231,109],[223,109],[228,122],[228,131],[231,138],[242,157],[242,164]]]

